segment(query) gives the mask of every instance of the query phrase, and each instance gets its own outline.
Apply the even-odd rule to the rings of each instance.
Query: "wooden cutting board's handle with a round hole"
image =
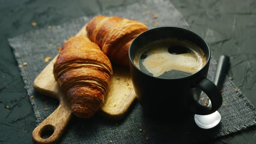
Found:
[[[58,108],[34,129],[32,138],[35,144],[56,144],[65,131],[72,117],[72,110],[68,99],[62,95],[58,96]],[[45,135],[49,137],[44,137]]]

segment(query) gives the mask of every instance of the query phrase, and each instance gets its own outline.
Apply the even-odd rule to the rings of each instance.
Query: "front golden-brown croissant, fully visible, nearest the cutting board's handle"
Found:
[[[90,118],[103,105],[112,77],[112,65],[101,49],[83,36],[71,37],[62,46],[53,66],[72,112]]]

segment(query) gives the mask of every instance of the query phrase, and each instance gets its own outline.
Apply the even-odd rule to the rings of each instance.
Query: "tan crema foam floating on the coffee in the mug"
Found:
[[[173,49],[175,46],[184,46],[190,52],[172,54],[168,52],[170,46],[174,46]],[[145,58],[141,60],[142,55]],[[135,53],[134,59],[134,63],[139,69],[141,67],[147,69],[154,77],[159,77],[164,72],[172,70],[194,74],[205,65],[205,62],[206,59],[200,47],[178,39],[163,39],[148,43]]]

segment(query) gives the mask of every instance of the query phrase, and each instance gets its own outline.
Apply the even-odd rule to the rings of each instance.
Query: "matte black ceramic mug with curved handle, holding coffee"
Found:
[[[200,47],[206,59],[196,73],[183,78],[163,79],[147,75],[134,63],[135,53],[146,44],[160,39],[183,39]],[[197,34],[178,27],[158,27],[137,36],[129,48],[130,72],[133,87],[144,111],[151,115],[209,115],[222,105],[220,90],[209,79],[210,48]],[[201,92],[210,98],[212,107],[200,105]]]

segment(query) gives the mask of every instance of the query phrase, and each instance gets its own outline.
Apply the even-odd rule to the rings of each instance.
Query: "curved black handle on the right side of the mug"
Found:
[[[201,89],[209,98],[212,107],[206,107],[196,102],[195,114],[197,115],[210,115],[217,111],[222,105],[222,95],[217,86],[209,79],[203,77],[194,85],[196,88]]]

